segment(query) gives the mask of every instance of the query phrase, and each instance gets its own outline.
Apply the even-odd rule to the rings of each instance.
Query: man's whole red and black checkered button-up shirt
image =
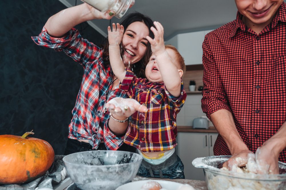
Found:
[[[259,35],[237,19],[208,33],[202,44],[202,109],[233,113],[249,150],[273,136],[286,120],[286,4]],[[285,134],[286,135],[286,134]],[[219,135],[215,155],[231,155]],[[286,149],[279,160],[286,162]]]

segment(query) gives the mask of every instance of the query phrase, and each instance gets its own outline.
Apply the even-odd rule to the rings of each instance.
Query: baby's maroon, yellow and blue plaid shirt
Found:
[[[142,152],[170,150],[177,145],[176,115],[184,105],[186,92],[183,83],[178,98],[172,96],[164,83],[137,78],[127,70],[120,89],[148,108],[146,113],[135,112],[124,137],[128,145]]]

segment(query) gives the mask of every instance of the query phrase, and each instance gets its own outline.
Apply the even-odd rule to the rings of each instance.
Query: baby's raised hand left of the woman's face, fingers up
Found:
[[[111,46],[119,46],[119,44],[122,41],[123,33],[124,33],[124,27],[117,23],[112,23],[112,31],[110,26],[107,28],[108,31],[108,42]]]

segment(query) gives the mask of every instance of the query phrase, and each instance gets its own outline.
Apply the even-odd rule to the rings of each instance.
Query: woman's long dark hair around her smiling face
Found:
[[[149,36],[151,38],[154,38],[154,34],[150,30],[151,26],[155,27],[154,24],[153,24],[152,19],[150,19],[149,17],[147,17],[147,16],[145,16],[145,15],[143,15],[141,13],[138,13],[138,12],[129,13],[128,15],[126,15],[124,17],[124,19],[121,21],[120,24],[124,26],[124,32],[125,32],[126,28],[130,24],[132,24],[134,22],[138,22],[138,21],[139,22],[143,22],[144,24],[146,24],[146,26],[149,29]],[[109,46],[108,38],[106,38],[106,40],[105,40],[105,42],[104,42],[104,44],[102,46],[102,50],[103,50],[102,58],[103,58],[104,64],[106,66],[110,65],[108,46]],[[123,55],[123,51],[124,50],[121,49],[121,57]],[[151,56],[151,46],[150,46],[150,43],[148,42],[148,44],[146,46],[146,52],[145,52],[143,58],[133,65],[133,72],[136,74],[137,77],[140,77],[140,78],[144,78],[145,77],[144,66],[146,65],[146,63],[148,63],[148,61],[150,59],[150,56]]]

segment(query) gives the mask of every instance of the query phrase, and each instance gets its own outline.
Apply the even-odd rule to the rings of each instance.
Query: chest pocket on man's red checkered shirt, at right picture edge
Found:
[[[286,55],[275,56],[273,58],[273,72],[271,85],[275,91],[286,92]]]

